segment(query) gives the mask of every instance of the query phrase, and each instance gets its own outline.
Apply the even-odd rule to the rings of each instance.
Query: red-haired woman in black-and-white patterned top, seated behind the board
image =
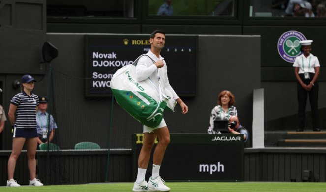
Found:
[[[235,96],[228,90],[224,90],[218,95],[217,106],[212,109],[210,114],[209,134],[220,133],[213,130],[215,120],[228,120],[231,116],[237,116],[237,109],[233,106],[235,102]]]

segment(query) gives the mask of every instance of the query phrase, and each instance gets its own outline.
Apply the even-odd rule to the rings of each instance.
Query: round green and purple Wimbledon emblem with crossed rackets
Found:
[[[300,41],[307,40],[298,31],[288,31],[281,35],[277,42],[278,53],[287,62],[293,63],[296,56],[300,55]]]

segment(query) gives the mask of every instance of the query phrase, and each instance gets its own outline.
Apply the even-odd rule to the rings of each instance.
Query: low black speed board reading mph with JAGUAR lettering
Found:
[[[170,138],[162,162],[164,168],[160,169],[166,181],[243,181],[243,134],[172,133]],[[143,133],[132,135],[133,180],[136,180],[143,140]],[[152,173],[152,155],[146,178]]]

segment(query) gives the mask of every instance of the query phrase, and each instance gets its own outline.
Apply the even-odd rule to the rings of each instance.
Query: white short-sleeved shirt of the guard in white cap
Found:
[[[303,58],[303,63],[302,63]],[[310,60],[310,67],[309,67]],[[304,68],[303,68],[304,66]],[[318,58],[311,53],[308,57],[305,57],[304,54],[301,54],[296,57],[293,67],[299,67],[299,74],[301,73],[315,73],[315,67],[320,67]]]

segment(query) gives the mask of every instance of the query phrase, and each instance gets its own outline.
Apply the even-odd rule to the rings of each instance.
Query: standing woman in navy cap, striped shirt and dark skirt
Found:
[[[38,96],[32,93],[36,81],[30,75],[24,75],[21,79],[22,92],[16,94],[10,101],[9,120],[12,125],[12,151],[8,160],[8,187],[19,187],[14,180],[16,161],[24,144],[27,146],[28,167],[30,171],[30,186],[43,186],[36,179],[36,110],[39,104]]]

